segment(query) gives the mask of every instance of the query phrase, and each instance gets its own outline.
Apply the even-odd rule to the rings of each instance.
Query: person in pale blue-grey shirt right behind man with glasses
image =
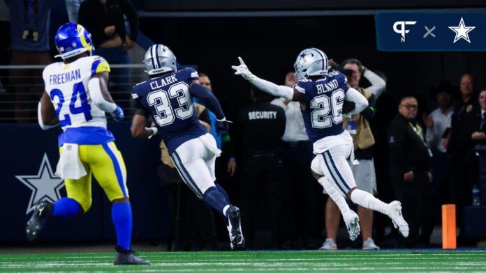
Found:
[[[452,106],[452,94],[448,86],[439,86],[439,93],[437,93],[437,104],[439,108],[432,111],[430,115],[424,113],[422,120],[427,126],[425,139],[427,146],[431,148],[433,158],[432,189],[430,189],[425,205],[425,213],[422,223],[422,234],[420,234],[420,242],[424,244],[430,243],[430,235],[434,231],[434,224],[439,215],[441,204],[441,197],[444,192],[450,190],[450,157],[447,154],[447,149],[443,145],[445,137],[450,130],[450,120],[454,107]],[[446,191],[447,190],[447,191]]]

